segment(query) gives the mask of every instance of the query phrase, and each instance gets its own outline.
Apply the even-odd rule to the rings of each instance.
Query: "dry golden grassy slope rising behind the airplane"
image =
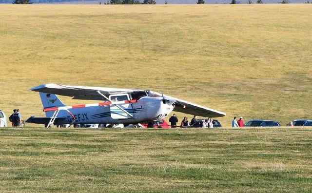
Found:
[[[54,82],[164,92],[226,112],[225,126],[311,117],[311,9],[0,5],[0,109],[42,116],[29,89]]]

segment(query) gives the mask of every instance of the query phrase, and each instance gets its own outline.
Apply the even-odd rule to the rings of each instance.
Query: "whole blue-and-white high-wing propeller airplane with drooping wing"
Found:
[[[161,120],[172,111],[195,116],[219,117],[225,113],[150,90],[42,84],[39,92],[46,117],[30,117],[26,122],[65,124],[139,124]],[[95,104],[66,106],[56,95],[73,99],[101,100]]]

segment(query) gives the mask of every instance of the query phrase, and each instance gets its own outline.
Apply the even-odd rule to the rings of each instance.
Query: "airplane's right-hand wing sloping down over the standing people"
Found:
[[[220,117],[220,116],[225,116],[226,114],[217,111],[214,109],[210,109],[208,107],[204,107],[186,100],[182,100],[179,98],[175,97],[170,97],[167,95],[162,95],[160,93],[156,93],[153,91],[150,91],[151,96],[158,96],[158,97],[164,97],[165,99],[171,100],[171,101],[176,101],[174,103],[175,109],[174,111],[180,112],[180,113],[185,113],[185,114],[191,114],[195,116],[203,116],[203,117]]]

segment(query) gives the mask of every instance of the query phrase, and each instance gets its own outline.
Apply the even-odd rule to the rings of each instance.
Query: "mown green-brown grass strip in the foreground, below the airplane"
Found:
[[[0,129],[0,192],[311,193],[312,129]]]

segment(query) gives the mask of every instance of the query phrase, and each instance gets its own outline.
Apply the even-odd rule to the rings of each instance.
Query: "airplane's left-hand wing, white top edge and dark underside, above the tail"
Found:
[[[82,100],[103,100],[103,97],[98,94],[100,91],[103,95],[131,93],[131,89],[105,88],[105,87],[90,87],[90,86],[68,86],[61,84],[42,84],[31,89],[41,93],[49,93],[55,95],[62,95],[73,97],[73,99]]]

